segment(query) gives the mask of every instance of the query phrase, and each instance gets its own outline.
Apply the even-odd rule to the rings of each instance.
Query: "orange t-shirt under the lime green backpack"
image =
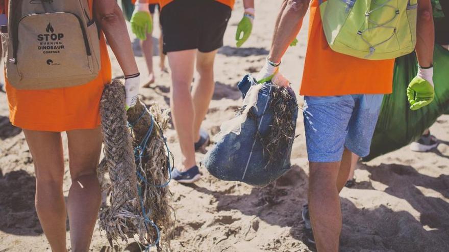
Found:
[[[371,61],[333,51],[322,29],[318,0],[310,7],[309,42],[300,94],[389,94],[394,59]]]

